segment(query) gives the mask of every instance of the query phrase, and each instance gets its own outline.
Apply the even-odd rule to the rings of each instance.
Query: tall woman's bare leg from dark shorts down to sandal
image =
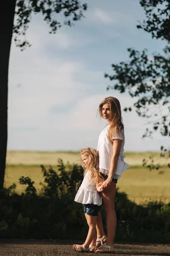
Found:
[[[102,201],[106,212],[106,223],[107,223],[107,241],[106,244],[109,246],[113,245],[115,232],[116,232],[116,212],[114,208],[114,198],[116,194],[116,183],[111,182],[111,184],[103,191]],[[101,248],[102,251],[108,251],[108,248]],[[113,248],[111,248],[111,251]]]

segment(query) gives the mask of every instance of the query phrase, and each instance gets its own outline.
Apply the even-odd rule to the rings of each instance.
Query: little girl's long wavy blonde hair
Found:
[[[86,168],[83,166],[81,158],[82,168],[84,169],[84,176],[86,172],[90,171],[90,183],[97,183],[99,185],[102,184],[105,179],[99,172],[99,152],[94,148],[83,148],[80,150],[80,156],[82,157],[83,155],[88,158],[88,164]]]

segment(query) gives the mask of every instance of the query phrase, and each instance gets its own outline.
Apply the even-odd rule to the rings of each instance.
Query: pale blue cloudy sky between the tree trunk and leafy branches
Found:
[[[139,0],[86,1],[85,18],[50,35],[42,15],[34,15],[26,38],[32,46],[21,52],[11,45],[8,93],[8,150],[79,150],[97,147],[105,120],[96,117],[99,103],[116,96],[122,109],[134,100],[106,90],[113,84],[111,64],[128,60],[128,47],[149,54],[164,42],[137,29],[145,17]],[[62,19],[62,17],[61,17]],[[159,134],[142,139],[146,120],[135,111],[122,113],[125,151],[158,151],[167,139]]]

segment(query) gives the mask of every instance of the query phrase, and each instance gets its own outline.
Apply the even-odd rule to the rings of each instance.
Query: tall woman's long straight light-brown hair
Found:
[[[107,97],[105,98],[99,105],[99,114],[101,117],[102,115],[102,108],[105,104],[110,105],[111,115],[112,115],[112,121],[109,127],[108,131],[108,139],[113,144],[112,137],[115,135],[119,135],[124,128],[123,121],[122,121],[122,112],[121,112],[121,106],[118,99],[115,97]]]

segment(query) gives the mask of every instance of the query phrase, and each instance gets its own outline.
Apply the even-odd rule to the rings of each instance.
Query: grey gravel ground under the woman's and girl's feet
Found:
[[[0,256],[82,255],[73,250],[72,244],[82,244],[82,241],[0,239]],[[101,256],[111,254],[100,253]],[[88,253],[92,255],[94,253]],[[170,244],[115,243],[114,255],[170,256]]]

